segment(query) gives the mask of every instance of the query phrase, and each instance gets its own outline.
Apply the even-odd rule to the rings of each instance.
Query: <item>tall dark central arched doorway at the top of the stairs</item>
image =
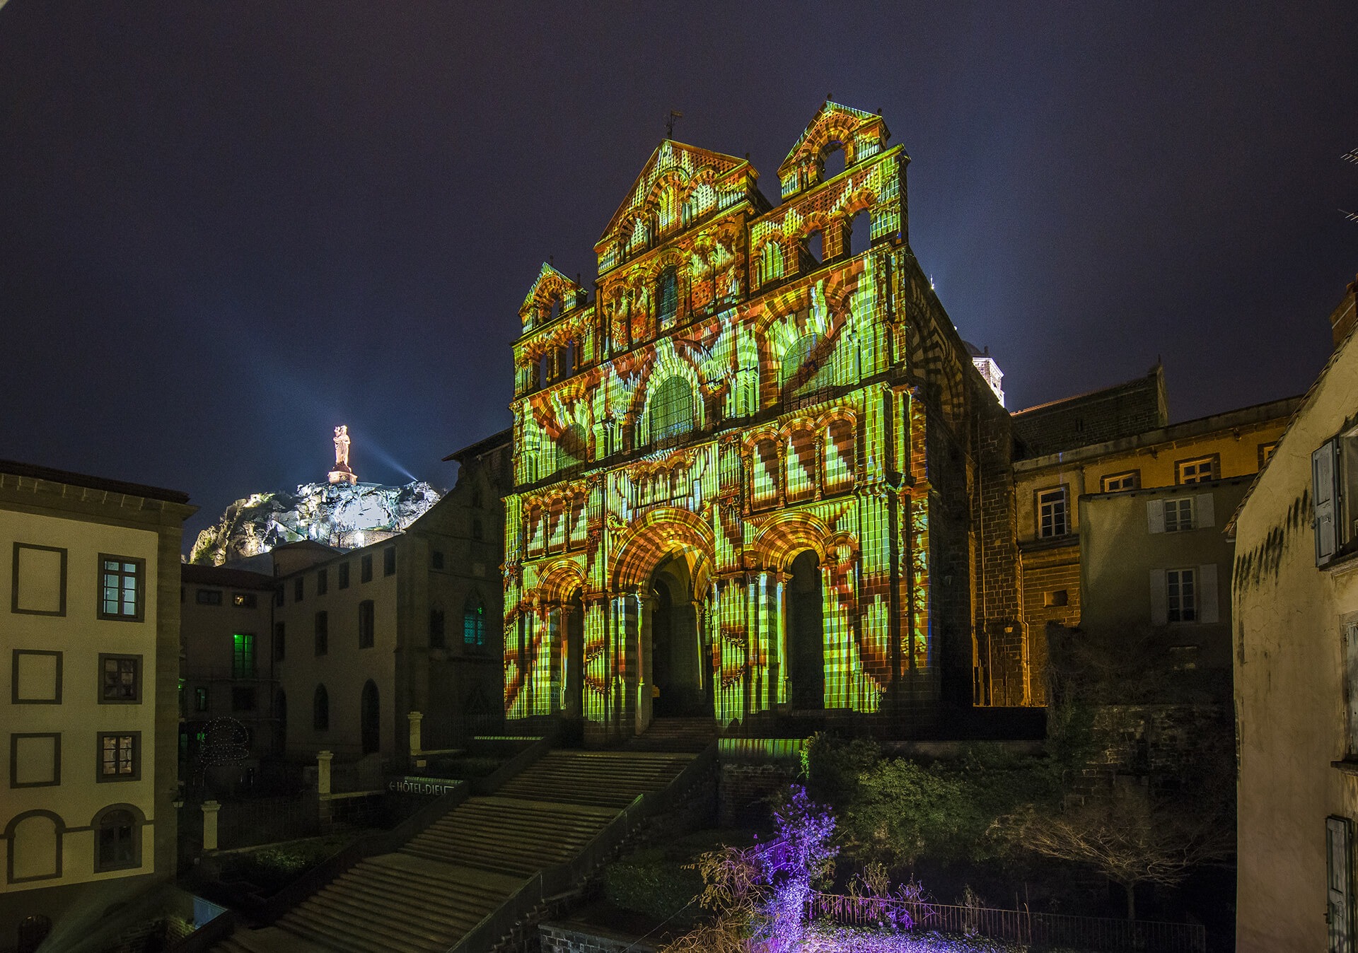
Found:
[[[693,565],[684,553],[665,557],[650,578],[652,714],[712,714],[712,672],[702,664],[702,631],[694,601]]]

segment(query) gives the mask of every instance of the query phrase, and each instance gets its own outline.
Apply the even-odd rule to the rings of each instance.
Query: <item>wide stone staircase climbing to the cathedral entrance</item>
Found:
[[[551,751],[493,796],[471,797],[397,851],[360,861],[273,926],[216,953],[444,953],[539,870],[565,863],[689,752]]]

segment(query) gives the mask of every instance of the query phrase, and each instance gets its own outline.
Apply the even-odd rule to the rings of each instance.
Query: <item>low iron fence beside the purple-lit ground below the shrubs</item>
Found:
[[[812,919],[887,930],[933,930],[985,937],[1035,949],[1071,948],[1100,953],[1206,953],[1207,931],[1199,923],[1120,920],[1105,916],[1042,914],[881,897],[816,893]]]

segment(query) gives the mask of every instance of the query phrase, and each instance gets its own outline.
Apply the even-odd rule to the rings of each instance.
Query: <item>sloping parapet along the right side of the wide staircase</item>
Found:
[[[713,741],[702,749],[702,753],[684,764],[683,770],[663,789],[634,797],[572,859],[545,867],[534,874],[528,882],[505,897],[504,903],[486,914],[445,953],[481,953],[481,950],[492,949],[546,897],[566,893],[573,884],[588,877],[604,858],[626,842],[642,820],[669,810],[694,779],[710,770],[716,760],[717,743]]]

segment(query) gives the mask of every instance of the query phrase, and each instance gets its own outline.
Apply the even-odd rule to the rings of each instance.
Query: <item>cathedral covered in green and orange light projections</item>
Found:
[[[664,140],[513,345],[505,714],[845,714],[1032,698],[1009,419],[907,240],[883,118],[778,168]],[[842,171],[827,166],[843,163]]]

